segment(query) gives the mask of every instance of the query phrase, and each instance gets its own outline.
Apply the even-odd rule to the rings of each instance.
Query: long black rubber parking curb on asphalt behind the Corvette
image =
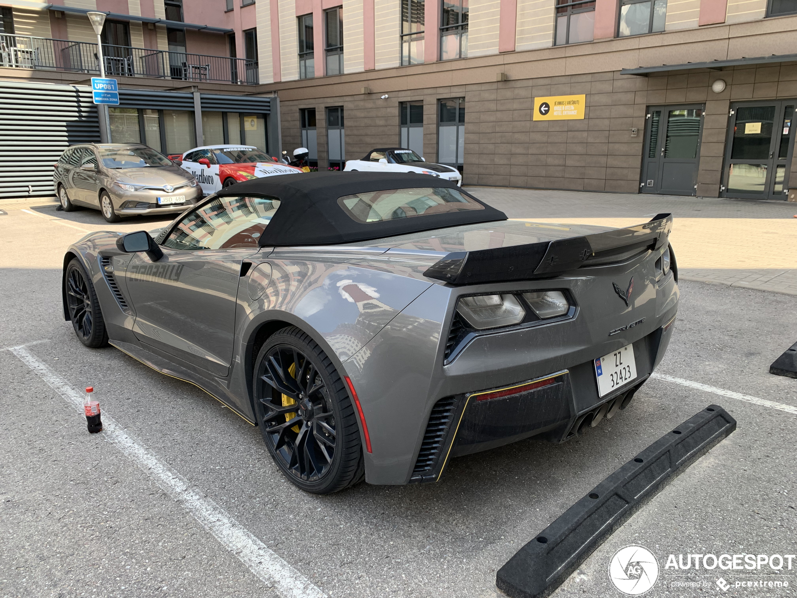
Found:
[[[496,585],[512,598],[549,596],[615,529],[734,430],[736,419],[718,405],[693,415],[518,550],[498,570]]]

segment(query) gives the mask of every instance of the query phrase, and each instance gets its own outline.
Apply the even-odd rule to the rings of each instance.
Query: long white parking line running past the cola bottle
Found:
[[[83,395],[29,352],[26,345],[10,347],[8,350],[82,413]],[[103,431],[101,434],[104,439],[126,454],[144,473],[150,475],[166,494],[187,509],[227,550],[238,557],[238,560],[246,565],[249,571],[269,587],[273,586],[280,596],[284,596],[284,598],[324,598],[326,596],[300,572],[283,561],[277,553],[270,550],[243,525],[235,521],[224,509],[207,498],[202,498],[194,490],[190,490],[178,474],[172,472],[166,464],[160,462],[147,449],[130,438],[124,428],[107,413],[103,413],[102,419]]]

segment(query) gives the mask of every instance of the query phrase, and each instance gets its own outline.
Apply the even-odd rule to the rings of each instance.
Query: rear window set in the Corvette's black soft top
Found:
[[[338,205],[356,222],[387,222],[399,218],[416,218],[431,214],[448,214],[485,207],[446,187],[413,187],[344,195]]]

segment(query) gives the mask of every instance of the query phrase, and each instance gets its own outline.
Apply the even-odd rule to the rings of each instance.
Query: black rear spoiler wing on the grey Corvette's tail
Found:
[[[672,230],[673,215],[656,214],[644,224],[583,237],[453,252],[423,274],[452,285],[552,277],[582,266],[624,262],[642,251],[657,250],[667,244]]]

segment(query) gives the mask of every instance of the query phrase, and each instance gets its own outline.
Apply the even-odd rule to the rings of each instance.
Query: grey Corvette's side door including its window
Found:
[[[234,352],[241,265],[279,207],[277,199],[216,198],[191,210],[167,235],[163,258],[134,254],[125,270],[143,344],[226,376]]]

